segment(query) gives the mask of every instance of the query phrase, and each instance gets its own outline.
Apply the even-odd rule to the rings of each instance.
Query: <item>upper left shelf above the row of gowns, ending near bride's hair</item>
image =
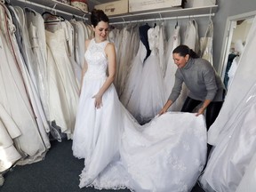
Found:
[[[12,0],[13,5],[19,5],[20,7],[29,7],[31,9],[38,10],[42,8],[46,11],[53,11],[58,14],[74,15],[76,17],[84,18],[89,12],[84,12],[70,4],[64,4],[56,0]]]

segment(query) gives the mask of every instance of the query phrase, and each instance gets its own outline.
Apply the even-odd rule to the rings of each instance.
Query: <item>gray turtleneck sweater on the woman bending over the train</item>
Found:
[[[188,88],[188,97],[194,100],[223,100],[224,84],[208,60],[190,58],[184,68],[178,68],[168,100],[177,100],[183,82]]]

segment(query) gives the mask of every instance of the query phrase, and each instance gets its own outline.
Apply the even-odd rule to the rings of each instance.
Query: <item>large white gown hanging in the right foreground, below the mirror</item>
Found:
[[[256,153],[256,68],[251,58],[255,33],[256,19],[220,114],[208,131],[208,143],[214,148],[200,178],[206,191],[236,191]]]

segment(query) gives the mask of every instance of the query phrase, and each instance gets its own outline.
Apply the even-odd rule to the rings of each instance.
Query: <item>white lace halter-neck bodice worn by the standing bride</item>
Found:
[[[105,47],[108,41],[96,43],[94,38],[91,40],[87,51],[84,54],[88,68],[85,74],[85,78],[98,79],[106,77],[106,71],[108,68],[108,59],[105,53]]]

